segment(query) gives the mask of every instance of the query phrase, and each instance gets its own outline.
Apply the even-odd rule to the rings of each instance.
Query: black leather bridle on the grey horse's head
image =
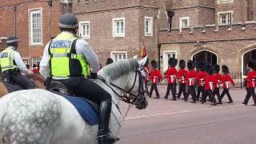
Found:
[[[143,77],[142,77],[142,74],[141,74],[141,70],[138,68],[137,70],[135,70],[135,72],[136,72],[136,73],[135,73],[134,83],[133,83],[133,86],[130,87],[130,90],[124,90],[124,89],[122,89],[120,86],[117,86],[117,85],[115,85],[115,84],[112,83],[112,82],[110,83],[110,85],[111,85],[111,86],[110,86],[106,81],[104,81],[104,80],[102,80],[102,81],[103,81],[107,86],[109,86],[111,90],[114,91],[114,94],[117,94],[117,95],[118,95],[118,97],[120,98],[121,101],[126,102],[126,103],[129,103],[129,104],[132,104],[132,105],[140,105],[140,104],[143,102],[143,96],[144,96],[144,94],[146,93],[146,90],[144,90],[144,86],[143,86],[143,82],[144,82],[144,81],[143,81]],[[134,89],[135,82],[136,82],[136,80],[137,80],[137,76],[138,76],[139,86],[138,86],[138,94],[135,95],[135,94],[130,93],[130,91]],[[118,90],[122,90],[122,94],[118,94],[118,93],[113,89],[112,86],[114,86],[114,87],[117,88]],[[128,94],[129,94],[129,96],[128,96]],[[130,95],[133,96],[134,99],[131,98]],[[138,101],[138,100],[142,100],[142,101],[141,101],[141,102],[139,101],[139,103],[137,103],[136,101]]]

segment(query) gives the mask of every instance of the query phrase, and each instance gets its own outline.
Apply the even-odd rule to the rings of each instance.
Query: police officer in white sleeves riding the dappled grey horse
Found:
[[[53,81],[62,82],[74,94],[98,103],[98,143],[114,143],[115,138],[109,130],[111,95],[86,78],[89,75],[97,78],[98,57],[84,39],[75,35],[78,19],[74,14],[62,14],[59,28],[61,34],[45,47],[40,73]]]

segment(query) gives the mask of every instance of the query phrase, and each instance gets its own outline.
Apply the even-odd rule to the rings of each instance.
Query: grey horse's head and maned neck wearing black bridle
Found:
[[[123,102],[136,105],[139,110],[148,105],[146,100],[146,86],[144,72],[147,57],[120,60],[104,66],[98,71],[98,77],[106,81],[114,95]],[[112,97],[114,102],[116,97]]]

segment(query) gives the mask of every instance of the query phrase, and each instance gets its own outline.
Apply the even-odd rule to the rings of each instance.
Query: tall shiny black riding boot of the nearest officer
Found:
[[[110,144],[116,141],[109,129],[111,105],[111,101],[105,101],[99,108],[98,144]]]

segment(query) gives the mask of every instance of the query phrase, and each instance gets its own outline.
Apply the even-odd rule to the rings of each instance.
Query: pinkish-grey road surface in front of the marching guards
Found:
[[[166,86],[159,87],[162,97]],[[149,98],[146,110],[132,107],[119,144],[256,144],[256,106],[241,102],[246,90],[230,90],[234,103],[210,106]],[[252,104],[250,99],[250,104]],[[122,103],[122,114],[127,105]]]

